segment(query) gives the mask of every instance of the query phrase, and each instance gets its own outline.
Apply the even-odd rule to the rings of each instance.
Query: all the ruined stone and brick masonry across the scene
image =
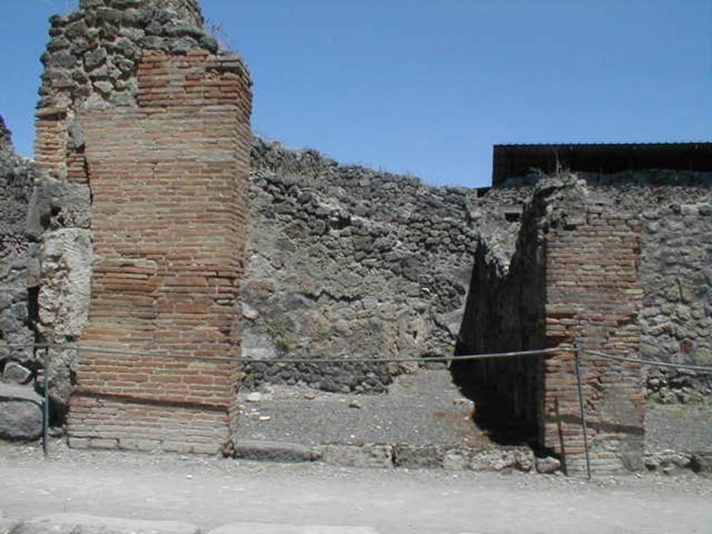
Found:
[[[36,164],[16,158],[3,171],[0,278],[14,288],[0,302],[4,340],[243,353],[274,360],[246,365],[249,387],[357,393],[383,392],[417,366],[279,360],[581,340],[708,363],[708,174],[582,174],[585,186],[535,194],[530,184],[434,188],[251,140],[246,69],[201,22],[193,0],[83,0],[51,19]],[[454,377],[481,413],[506,414],[577,468],[571,365],[562,352],[456,366]],[[48,370],[31,351],[4,350],[0,368],[16,382],[48,373],[53,422],[73,394],[74,445],[194,451],[229,439],[242,377],[229,363],[67,350],[51,351]],[[597,465],[637,466],[639,370],[584,371]],[[710,388],[670,372],[647,384],[664,402]]]

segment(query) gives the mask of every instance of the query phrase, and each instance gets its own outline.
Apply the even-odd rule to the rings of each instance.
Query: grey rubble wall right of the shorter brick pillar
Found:
[[[611,209],[643,225],[641,352],[647,360],[710,365],[712,326],[712,173],[681,171],[583,175]],[[655,402],[709,402],[710,373],[645,367]]]

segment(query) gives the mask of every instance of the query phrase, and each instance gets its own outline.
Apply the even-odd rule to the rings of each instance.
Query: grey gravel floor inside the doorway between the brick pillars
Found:
[[[263,394],[241,392],[239,399],[245,409],[238,431],[243,440],[308,446],[490,444],[472,421],[472,403],[452,384],[447,370],[402,375],[382,395],[273,386]]]

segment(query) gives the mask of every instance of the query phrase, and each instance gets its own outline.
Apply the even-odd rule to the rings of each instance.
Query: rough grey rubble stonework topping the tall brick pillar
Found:
[[[82,0],[52,16],[38,117],[67,110],[134,107],[145,53],[221,53],[195,0]],[[240,69],[248,76],[239,58]]]

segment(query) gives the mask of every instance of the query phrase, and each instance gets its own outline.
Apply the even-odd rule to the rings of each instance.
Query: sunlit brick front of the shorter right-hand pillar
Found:
[[[550,205],[545,238],[548,346],[574,340],[614,355],[638,355],[639,221],[593,201]],[[583,382],[596,473],[642,466],[644,398],[640,366],[584,357]],[[573,355],[545,361],[544,445],[567,470],[585,466]]]

